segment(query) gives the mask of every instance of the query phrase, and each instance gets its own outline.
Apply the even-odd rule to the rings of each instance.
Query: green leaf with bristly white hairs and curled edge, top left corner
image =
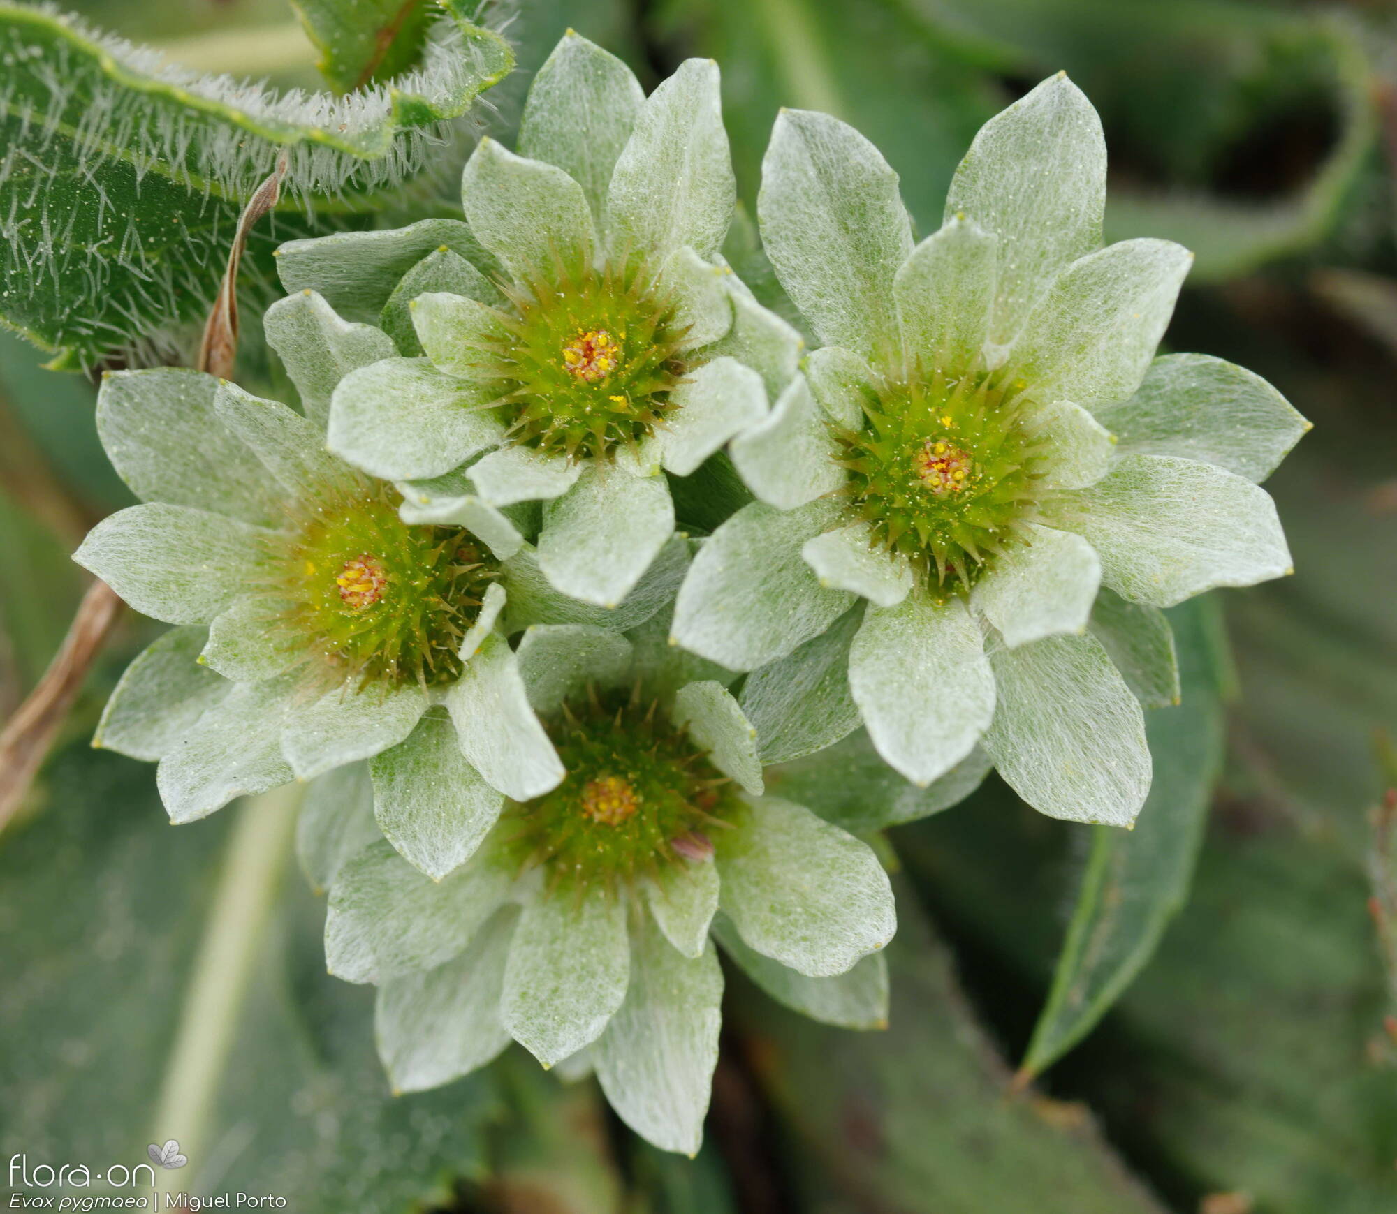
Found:
[[[176,345],[282,153],[253,279],[288,236],[370,223],[388,191],[434,172],[455,120],[513,67],[464,3],[443,0],[418,68],[335,99],[198,75],[0,0],[0,324],[57,368]]]

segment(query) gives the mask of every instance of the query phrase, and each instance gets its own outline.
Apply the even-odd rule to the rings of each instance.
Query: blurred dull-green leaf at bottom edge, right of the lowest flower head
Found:
[[[908,885],[897,900],[886,1031],[831,1030],[731,984],[728,1031],[766,1051],[759,1083],[791,1132],[793,1208],[1164,1214],[1088,1115],[1009,1098],[946,945]]]

